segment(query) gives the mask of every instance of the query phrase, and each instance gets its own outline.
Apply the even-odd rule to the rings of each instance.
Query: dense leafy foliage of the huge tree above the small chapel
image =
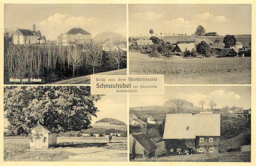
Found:
[[[27,135],[37,123],[56,132],[91,128],[91,117],[99,110],[86,86],[6,86],[4,114],[9,135]]]

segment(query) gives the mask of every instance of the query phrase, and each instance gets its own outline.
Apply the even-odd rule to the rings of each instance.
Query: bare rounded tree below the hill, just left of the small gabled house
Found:
[[[92,42],[87,46],[86,54],[88,64],[93,67],[94,74],[95,67],[99,67],[101,65],[102,47],[99,43]]]

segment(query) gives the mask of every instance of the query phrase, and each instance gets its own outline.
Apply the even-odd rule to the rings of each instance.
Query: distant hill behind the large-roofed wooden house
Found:
[[[175,105],[175,101],[177,99],[172,99],[172,100],[169,100],[169,101],[166,101],[162,106],[156,106],[156,105],[153,105],[153,106],[138,106],[138,107],[131,107],[130,109],[133,110],[133,111],[139,111],[139,112],[145,112],[145,111],[156,111],[156,112],[168,112],[170,107],[174,106]],[[191,103],[186,101],[186,100],[182,100],[182,99],[179,99],[181,101],[183,101],[183,107],[184,107],[184,112],[183,113],[192,113],[192,106],[191,106]],[[201,107],[198,107],[198,106],[195,106],[193,105],[193,110],[199,110],[201,111]],[[205,111],[205,109],[203,109],[203,111]]]

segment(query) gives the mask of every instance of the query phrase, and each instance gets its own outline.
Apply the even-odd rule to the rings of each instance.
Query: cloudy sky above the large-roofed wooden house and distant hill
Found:
[[[137,106],[161,106],[164,102],[172,99],[183,99],[199,106],[199,102],[205,102],[204,108],[209,101],[217,103],[216,109],[223,106],[237,106],[243,109],[251,108],[250,86],[165,86],[164,94],[159,95],[130,95],[130,107]]]

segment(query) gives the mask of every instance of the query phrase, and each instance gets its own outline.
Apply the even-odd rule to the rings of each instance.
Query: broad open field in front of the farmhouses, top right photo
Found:
[[[130,74],[163,74],[166,84],[250,84],[251,57],[173,59],[130,53]]]

